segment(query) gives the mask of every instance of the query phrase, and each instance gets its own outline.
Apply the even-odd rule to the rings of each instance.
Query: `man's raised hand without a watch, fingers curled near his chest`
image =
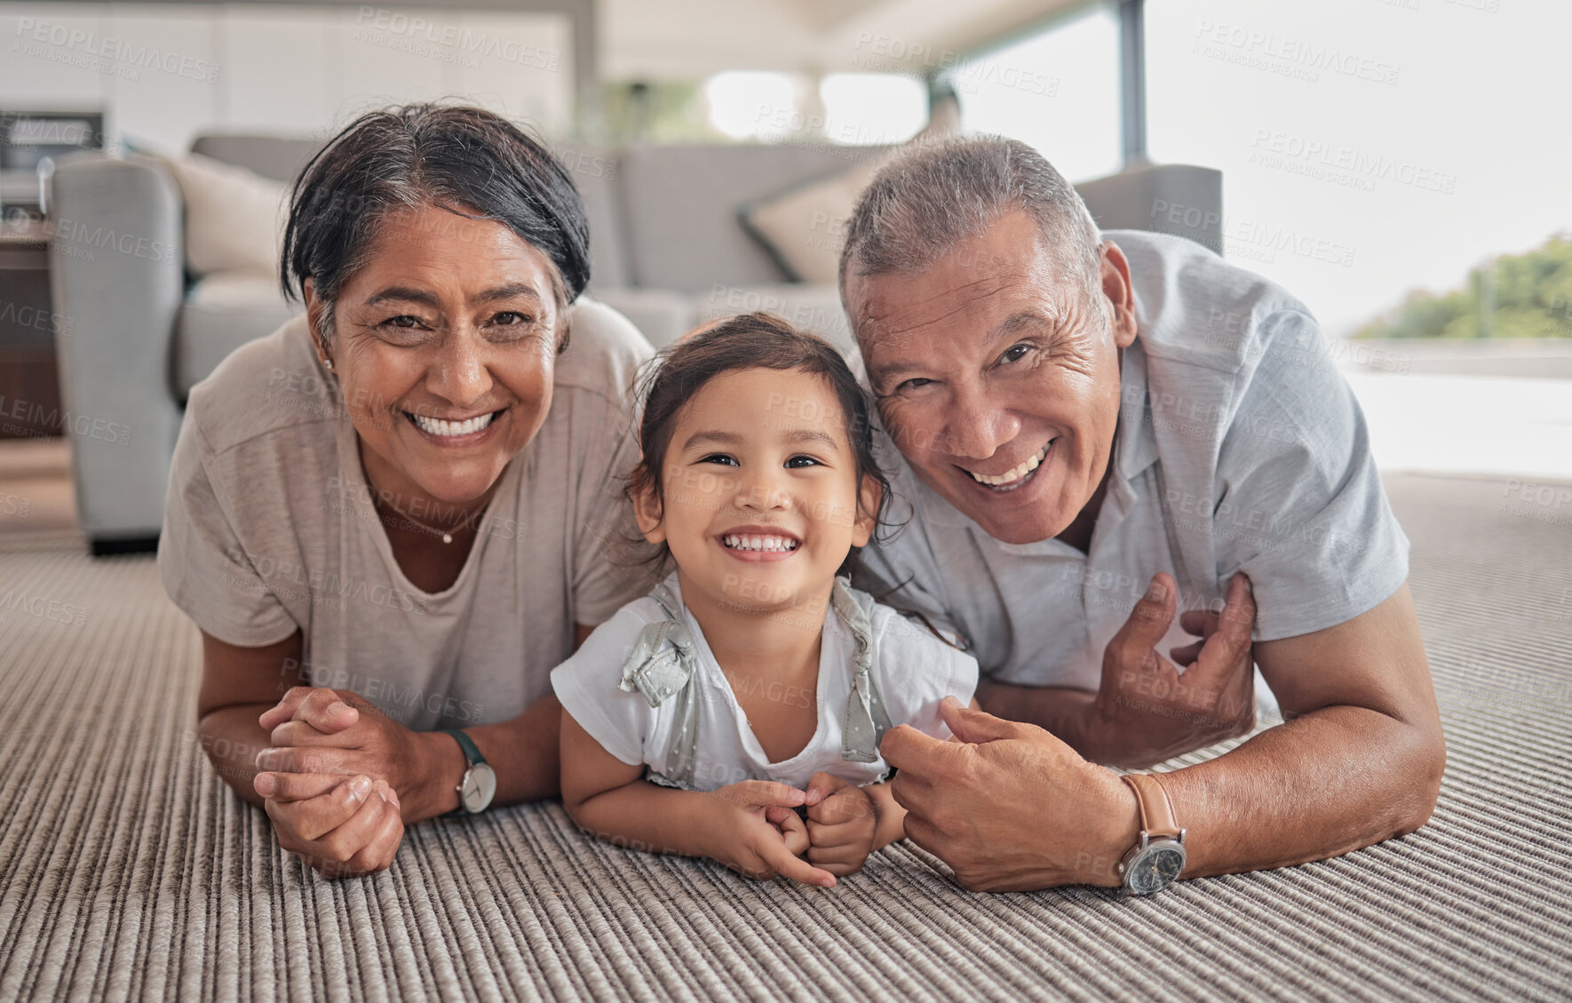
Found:
[[[1228,583],[1221,613],[1190,610],[1179,624],[1201,640],[1157,654],[1174,619],[1174,580],[1152,575],[1102,656],[1102,685],[1088,707],[1088,729],[1099,748],[1122,745],[1122,764],[1151,766],[1212,742],[1250,734],[1256,726],[1254,659],[1250,632],[1256,602],[1250,579]]]

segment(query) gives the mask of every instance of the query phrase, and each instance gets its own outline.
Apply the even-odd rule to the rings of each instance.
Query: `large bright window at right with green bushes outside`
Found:
[[[1148,0],[1152,159],[1221,170],[1225,256],[1328,333],[1566,336],[1572,130],[1544,101],[1572,9],[1536,19],[1385,2],[1349,31],[1309,6]]]

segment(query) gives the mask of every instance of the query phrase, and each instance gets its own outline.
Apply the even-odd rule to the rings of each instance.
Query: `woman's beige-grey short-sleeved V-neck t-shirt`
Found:
[[[608,307],[580,300],[569,318],[545,421],[440,593],[393,558],[305,319],[237,349],[192,388],[174,446],[159,542],[170,597],[230,645],[300,630],[314,685],[354,690],[417,731],[506,720],[544,696],[574,624],[608,619],[651,585],[623,486],[638,459],[629,388],[652,352]]]

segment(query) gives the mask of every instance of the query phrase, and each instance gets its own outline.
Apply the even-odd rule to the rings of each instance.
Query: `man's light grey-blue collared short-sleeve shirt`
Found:
[[[1391,596],[1409,539],[1305,305],[1182,237],[1104,236],[1129,258],[1138,335],[1089,553],[994,539],[880,437],[891,516],[909,502],[912,519],[865,550],[865,586],[953,626],[994,679],[1089,690],[1159,571],[1179,582],[1179,610],[1221,608],[1232,574],[1248,574],[1256,640],[1322,630]],[[1192,640],[1176,616],[1159,651]]]

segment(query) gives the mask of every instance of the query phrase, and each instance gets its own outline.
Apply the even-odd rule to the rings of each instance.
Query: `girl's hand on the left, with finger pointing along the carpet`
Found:
[[[808,830],[794,808],[814,802],[797,788],[769,780],[731,783],[709,797],[720,817],[706,855],[753,879],[780,874],[805,885],[835,887],[835,874],[802,860]]]

